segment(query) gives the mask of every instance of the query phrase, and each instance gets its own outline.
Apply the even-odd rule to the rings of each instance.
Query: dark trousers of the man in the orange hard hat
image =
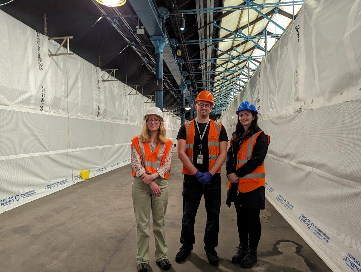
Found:
[[[184,175],[183,180],[183,217],[181,243],[193,249],[195,243],[194,221],[204,195],[207,221],[204,232],[204,244],[207,249],[218,245],[219,210],[221,208],[221,174],[214,174],[210,185],[200,183],[195,176]]]

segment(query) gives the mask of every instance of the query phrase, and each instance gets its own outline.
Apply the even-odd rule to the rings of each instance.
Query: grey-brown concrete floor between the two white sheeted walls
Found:
[[[175,151],[174,148],[166,214],[170,271],[330,271],[269,202],[266,210],[261,211],[258,263],[249,269],[232,264],[238,233],[235,209],[225,204],[225,166],[216,248],[219,266],[210,266],[203,250],[206,217],[203,200],[196,217],[196,244],[192,254],[184,263],[177,264],[174,258],[181,247],[183,175]],[[131,184],[127,165],[4,212],[0,215],[0,271],[136,271]],[[155,262],[152,237],[150,256],[149,271],[162,271]]]

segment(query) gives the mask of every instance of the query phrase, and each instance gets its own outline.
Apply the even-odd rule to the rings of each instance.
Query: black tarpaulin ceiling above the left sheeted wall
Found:
[[[48,37],[74,36],[70,40],[70,50],[78,56],[99,66],[100,55],[102,69],[118,68],[116,78],[127,81],[128,85],[139,85],[138,91],[144,95],[152,95],[158,89],[155,73],[144,65],[133,47],[126,47],[129,45],[127,40],[106,18],[97,22],[102,14],[92,1],[16,0],[0,6],[0,9],[40,33],[44,33],[43,16],[46,13]],[[134,14],[129,7],[122,9],[122,14],[126,11]],[[149,51],[154,51],[154,48]],[[164,73],[167,72],[164,65]],[[166,88],[163,105],[170,110],[179,107],[179,101]]]

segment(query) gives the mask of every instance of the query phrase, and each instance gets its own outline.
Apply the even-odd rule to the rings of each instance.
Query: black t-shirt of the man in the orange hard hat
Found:
[[[188,123],[190,123],[190,122],[188,122]],[[208,167],[209,167],[208,134],[209,134],[210,122],[207,126],[207,130],[202,139],[201,154],[203,155],[203,164],[197,164],[197,155],[199,155],[199,144],[200,144],[200,139],[201,139],[199,132],[201,134],[203,134],[203,131],[204,131],[207,123],[204,123],[204,124],[198,123],[199,132],[198,132],[198,129],[196,126],[196,121],[193,122],[193,125],[194,125],[194,129],[195,129],[194,144],[193,144],[193,164],[198,170],[200,170],[200,172],[208,172]],[[177,140],[178,139],[187,140],[187,131],[186,131],[186,126],[184,124],[181,126],[181,128],[178,131]],[[227,131],[223,125],[222,125],[222,129],[221,129],[221,133],[219,135],[219,142],[228,142]]]

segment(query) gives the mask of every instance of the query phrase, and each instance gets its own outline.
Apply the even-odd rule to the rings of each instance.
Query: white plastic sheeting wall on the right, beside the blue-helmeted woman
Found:
[[[267,198],[333,271],[361,271],[360,30],[360,1],[305,1],[219,119],[259,109]]]

